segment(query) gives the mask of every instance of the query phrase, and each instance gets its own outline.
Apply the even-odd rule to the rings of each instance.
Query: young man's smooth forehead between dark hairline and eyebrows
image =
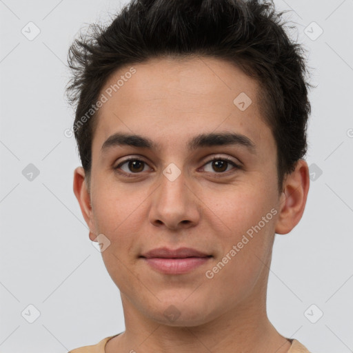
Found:
[[[121,130],[178,141],[217,128],[259,140],[266,125],[258,89],[254,79],[220,59],[169,57],[125,65],[101,90],[107,101],[97,114],[94,141],[101,147]]]

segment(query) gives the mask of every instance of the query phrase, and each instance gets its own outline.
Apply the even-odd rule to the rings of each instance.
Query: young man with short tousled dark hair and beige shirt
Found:
[[[72,353],[308,352],[266,313],[274,234],[309,189],[310,85],[280,17],[132,1],[70,48],[74,194],[125,317]]]

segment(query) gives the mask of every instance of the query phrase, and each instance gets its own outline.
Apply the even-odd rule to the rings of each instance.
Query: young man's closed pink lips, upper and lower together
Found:
[[[140,256],[151,268],[164,274],[184,274],[207,263],[212,255],[192,248],[158,248]]]

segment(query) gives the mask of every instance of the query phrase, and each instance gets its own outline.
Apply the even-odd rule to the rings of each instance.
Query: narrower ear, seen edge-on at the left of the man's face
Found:
[[[92,205],[90,201],[90,192],[88,190],[88,185],[85,181],[85,171],[82,167],[78,167],[74,170],[74,194],[79,201],[79,205],[81,208],[81,212],[83,218],[85,219],[85,223],[87,223],[90,230],[93,228],[92,223]],[[96,239],[96,235],[90,232],[90,240],[94,241]]]

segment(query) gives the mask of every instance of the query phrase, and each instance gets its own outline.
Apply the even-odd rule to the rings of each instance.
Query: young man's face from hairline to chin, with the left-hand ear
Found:
[[[283,199],[256,81],[219,59],[131,66],[101,90],[90,194],[74,181],[124,310],[190,326],[260,305]],[[157,248],[205,256],[141,257]]]

